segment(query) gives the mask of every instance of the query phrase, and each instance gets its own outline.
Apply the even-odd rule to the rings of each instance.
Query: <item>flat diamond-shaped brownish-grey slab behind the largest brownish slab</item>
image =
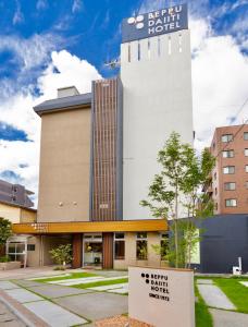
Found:
[[[39,284],[38,287],[30,287],[29,290],[40,294],[41,296],[46,296],[49,299],[61,298],[61,296],[70,296],[83,293],[90,293],[91,291],[88,289],[75,289],[63,287],[59,284]]]

